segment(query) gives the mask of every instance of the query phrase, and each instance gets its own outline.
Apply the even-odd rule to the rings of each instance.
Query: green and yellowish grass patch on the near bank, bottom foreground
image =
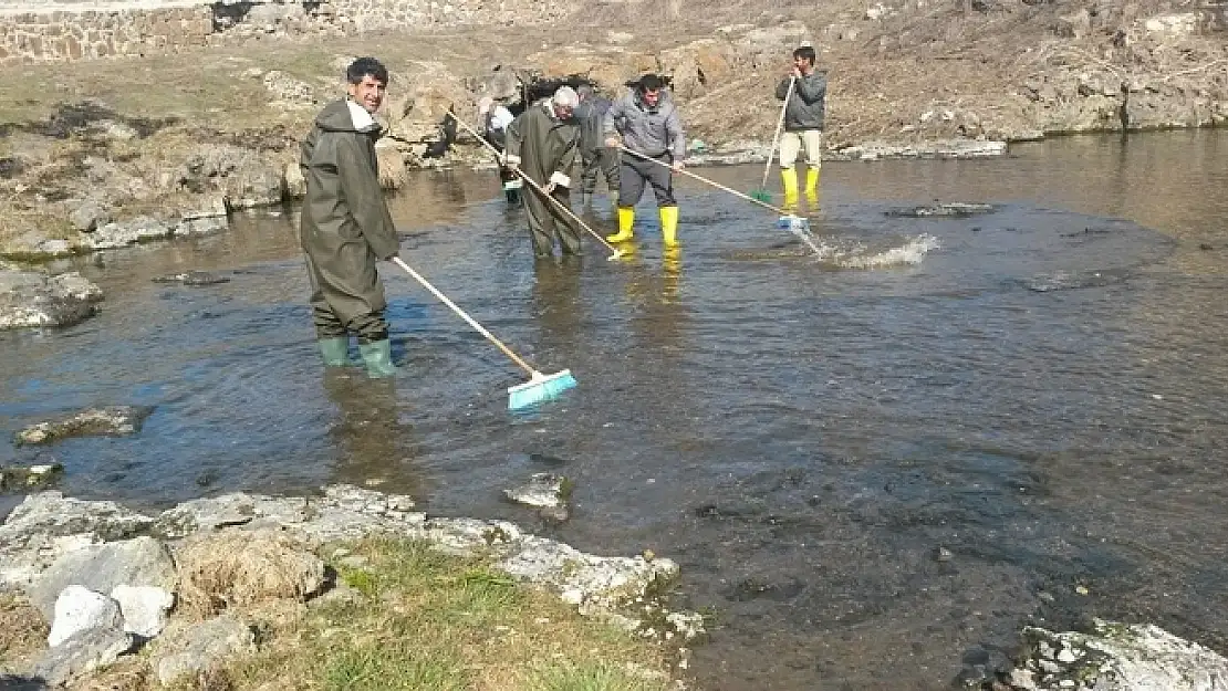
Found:
[[[314,605],[295,621],[274,621],[262,650],[226,670],[232,691],[672,687],[656,643],[583,619],[488,560],[445,555],[419,541],[339,546],[359,557],[333,565],[357,594]]]

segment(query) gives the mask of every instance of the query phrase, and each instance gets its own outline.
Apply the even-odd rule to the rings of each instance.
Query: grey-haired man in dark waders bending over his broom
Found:
[[[560,86],[553,97],[529,106],[507,128],[505,164],[518,168],[558,203],[535,189],[524,195],[533,255],[538,259],[553,257],[555,236],[562,254],[580,254],[580,232],[559,206],[571,206],[567,172],[580,150],[580,128],[572,117],[577,106],[576,91]]]

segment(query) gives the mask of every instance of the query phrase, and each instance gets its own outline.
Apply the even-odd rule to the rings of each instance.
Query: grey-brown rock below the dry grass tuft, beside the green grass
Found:
[[[183,628],[167,630],[150,652],[158,681],[172,684],[205,671],[236,655],[255,653],[252,628],[231,616],[219,616]]]

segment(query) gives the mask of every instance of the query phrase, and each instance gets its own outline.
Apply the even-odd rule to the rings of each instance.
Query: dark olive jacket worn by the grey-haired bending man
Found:
[[[507,126],[507,162],[516,163],[539,185],[571,187],[567,174],[580,150],[575,118],[560,120],[545,98],[529,106]]]

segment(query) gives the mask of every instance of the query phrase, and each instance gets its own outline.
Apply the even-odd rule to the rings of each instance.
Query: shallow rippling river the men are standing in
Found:
[[[760,167],[707,168],[749,190]],[[375,485],[602,554],[678,560],[710,690],[941,689],[1023,623],[1160,623],[1228,652],[1228,131],[1062,139],[993,161],[831,163],[819,255],[683,183],[631,260],[533,268],[492,173],[420,174],[403,257],[580,387],[506,410],[511,362],[384,270],[395,383],[324,376],[295,214],[108,253],[102,313],[0,333],[0,463],[145,507]],[[892,215],[991,203],[962,218]],[[597,222],[612,225],[602,209]],[[216,271],[209,287],[155,284]],[[25,423],[155,406],[130,438]],[[561,527],[501,501],[576,482]],[[1086,594],[1082,594],[1086,593]]]

